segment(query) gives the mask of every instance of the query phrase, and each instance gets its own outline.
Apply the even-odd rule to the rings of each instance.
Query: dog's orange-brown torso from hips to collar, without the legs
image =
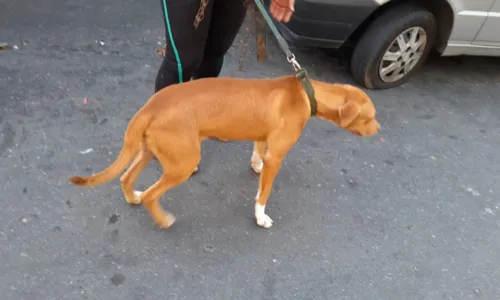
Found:
[[[287,110],[297,114],[297,105],[307,108],[294,77],[206,78],[163,89],[144,109],[154,114],[150,126],[164,130],[196,128],[202,138],[260,140]]]

